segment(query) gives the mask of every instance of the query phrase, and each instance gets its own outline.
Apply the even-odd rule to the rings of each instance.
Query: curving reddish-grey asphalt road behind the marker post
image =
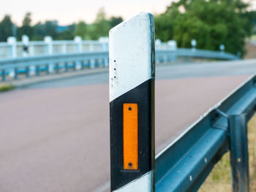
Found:
[[[250,62],[159,66],[157,153],[256,72]],[[0,191],[109,191],[107,81],[97,74],[0,94]]]

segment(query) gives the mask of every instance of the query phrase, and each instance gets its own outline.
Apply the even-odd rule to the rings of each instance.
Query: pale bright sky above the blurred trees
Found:
[[[107,16],[131,18],[138,12],[158,14],[164,12],[172,1],[177,0],[1,0],[0,20],[12,15],[12,21],[20,25],[26,12],[31,12],[32,23],[58,20],[59,25],[77,23],[79,20],[92,23],[99,8],[104,7]],[[256,9],[256,0],[252,9]]]

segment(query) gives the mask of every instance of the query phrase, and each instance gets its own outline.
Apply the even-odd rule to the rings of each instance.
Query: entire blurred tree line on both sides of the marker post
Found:
[[[256,12],[248,10],[249,4],[242,0],[179,0],[170,4],[162,14],[155,15],[157,39],[167,42],[174,39],[178,47],[191,47],[191,40],[197,40],[197,48],[219,50],[225,45],[228,53],[244,55],[246,37],[255,31]],[[107,37],[113,26],[121,23],[121,17],[107,18],[104,9],[99,9],[94,23],[84,21],[69,26],[58,26],[57,21],[46,21],[31,25],[31,14],[27,13],[22,26],[12,23],[5,15],[0,23],[0,41],[15,36],[20,40],[23,34],[31,40],[53,39],[98,39]]]

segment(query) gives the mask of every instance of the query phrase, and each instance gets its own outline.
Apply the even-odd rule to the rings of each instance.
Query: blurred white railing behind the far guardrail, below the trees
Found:
[[[157,50],[176,50],[177,47],[175,41],[164,43],[157,39],[156,48]],[[7,42],[0,42],[0,59],[107,50],[108,37],[100,37],[99,40],[82,40],[81,37],[75,37],[74,40],[57,41],[53,41],[51,37],[45,37],[44,41],[29,41],[29,37],[23,35],[21,42],[17,42],[15,37],[9,37]]]

